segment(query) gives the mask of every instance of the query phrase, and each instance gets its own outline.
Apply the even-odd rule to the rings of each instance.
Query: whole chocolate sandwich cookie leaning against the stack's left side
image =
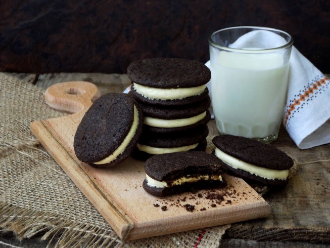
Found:
[[[74,136],[77,158],[93,167],[112,167],[126,159],[142,133],[143,114],[130,96],[108,93],[84,114]]]

